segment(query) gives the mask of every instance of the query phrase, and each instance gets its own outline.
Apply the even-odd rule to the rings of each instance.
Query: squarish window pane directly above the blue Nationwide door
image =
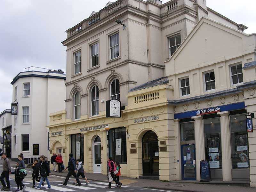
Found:
[[[194,122],[180,123],[180,141],[195,140]]]

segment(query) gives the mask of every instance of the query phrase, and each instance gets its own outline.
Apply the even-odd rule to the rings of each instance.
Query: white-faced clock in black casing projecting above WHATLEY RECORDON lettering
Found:
[[[106,101],[106,117],[121,117],[121,102],[119,100]]]

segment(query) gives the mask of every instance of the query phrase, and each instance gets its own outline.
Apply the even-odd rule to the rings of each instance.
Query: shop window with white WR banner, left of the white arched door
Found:
[[[84,162],[84,134],[71,135],[71,153],[75,159]]]

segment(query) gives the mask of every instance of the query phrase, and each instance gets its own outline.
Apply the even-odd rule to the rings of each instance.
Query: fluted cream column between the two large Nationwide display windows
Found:
[[[221,126],[222,180],[232,180],[232,158],[230,142],[229,112],[219,112]]]

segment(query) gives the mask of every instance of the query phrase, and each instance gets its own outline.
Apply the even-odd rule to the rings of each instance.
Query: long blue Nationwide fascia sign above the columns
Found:
[[[212,108],[203,108],[203,109],[198,109],[198,110],[194,110],[194,111],[175,113],[174,119],[182,119],[182,118],[188,118],[188,117],[193,117],[193,116],[198,116],[198,115],[218,113],[221,111],[233,111],[233,110],[244,109],[244,108],[245,108],[244,102],[232,103],[232,104],[222,105],[222,106],[217,106],[217,107],[212,107]]]

